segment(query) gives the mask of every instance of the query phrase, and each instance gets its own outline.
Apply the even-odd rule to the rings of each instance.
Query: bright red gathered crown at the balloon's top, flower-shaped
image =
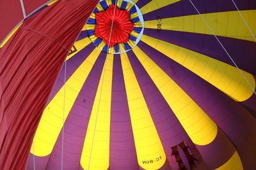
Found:
[[[114,10],[115,15],[113,20]],[[117,6],[115,8],[115,4],[111,4],[106,11],[96,13],[95,19],[96,27],[94,34],[98,38],[103,39],[109,47],[115,46],[118,43],[127,43],[129,41],[129,34],[134,29],[134,24],[130,21],[129,11],[119,10]],[[111,32],[112,21],[113,29]]]

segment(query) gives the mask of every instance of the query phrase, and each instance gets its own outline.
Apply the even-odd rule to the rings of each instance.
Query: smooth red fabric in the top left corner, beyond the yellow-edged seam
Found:
[[[0,43],[22,19],[19,0],[0,0]]]

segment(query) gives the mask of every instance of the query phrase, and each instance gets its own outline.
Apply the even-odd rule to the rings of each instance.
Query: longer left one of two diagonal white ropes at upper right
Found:
[[[191,0],[189,0],[190,3],[193,5],[193,7],[195,8],[195,10],[197,11],[197,13],[200,15],[200,17],[202,18],[202,20],[204,20],[205,25],[207,25],[207,27],[210,29],[210,31],[212,32],[212,35],[217,39],[218,43],[220,43],[221,47],[223,48],[223,50],[227,53],[228,57],[230,58],[230,60],[232,60],[233,64],[237,67],[239,73],[241,73],[241,75],[243,76],[244,80],[248,83],[248,85],[250,86],[250,88],[252,89],[253,93],[256,94],[255,90],[253,89],[252,85],[250,84],[250,82],[247,80],[247,78],[244,76],[243,72],[241,71],[241,69],[239,69],[239,67],[237,66],[236,62],[232,59],[232,57],[230,56],[230,54],[227,52],[226,48],[223,46],[223,44],[221,43],[220,39],[216,36],[216,34],[214,33],[214,31],[212,30],[212,28],[210,27],[210,25],[206,22],[205,18],[202,16],[202,14],[198,11],[198,9],[196,8],[195,4],[193,4],[193,2]]]

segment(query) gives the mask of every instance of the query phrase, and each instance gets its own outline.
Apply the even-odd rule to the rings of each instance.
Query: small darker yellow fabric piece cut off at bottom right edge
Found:
[[[223,166],[218,167],[216,170],[243,170],[243,165],[237,151]]]

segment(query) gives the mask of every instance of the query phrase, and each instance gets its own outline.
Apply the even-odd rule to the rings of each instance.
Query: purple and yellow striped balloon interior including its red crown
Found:
[[[255,169],[255,18],[252,0],[100,0],[26,169]]]

